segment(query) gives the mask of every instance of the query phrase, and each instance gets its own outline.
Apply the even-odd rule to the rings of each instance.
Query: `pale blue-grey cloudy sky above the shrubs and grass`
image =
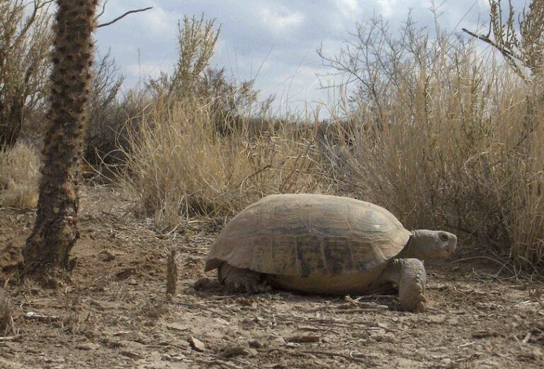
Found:
[[[525,4],[513,2],[519,8]],[[300,108],[304,101],[314,106],[327,99],[319,89],[319,78],[331,72],[322,67],[316,53],[321,42],[327,54],[334,55],[356,22],[381,15],[394,28],[407,18],[410,8],[419,25],[432,25],[431,4],[429,0],[110,0],[102,23],[132,9],[153,9],[99,28],[96,40],[101,53],[111,47],[128,87],[140,76],[169,72],[176,62],[178,20],[204,13],[221,25],[212,67],[226,67],[237,79],[256,77],[256,87],[264,94],[276,94],[276,104]],[[446,0],[439,11],[442,28],[474,30],[479,21],[487,21],[488,2]]]

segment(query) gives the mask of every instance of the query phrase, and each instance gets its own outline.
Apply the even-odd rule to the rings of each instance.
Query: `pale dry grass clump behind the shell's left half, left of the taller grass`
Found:
[[[253,135],[243,123],[221,135],[209,109],[198,99],[154,108],[131,137],[123,185],[158,229],[182,215],[232,215],[271,193],[327,191],[311,135]]]

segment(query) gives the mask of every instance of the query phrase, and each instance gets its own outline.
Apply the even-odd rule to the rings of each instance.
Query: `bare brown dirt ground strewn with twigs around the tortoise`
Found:
[[[233,295],[203,273],[221,220],[157,234],[107,187],[81,199],[72,284],[21,286],[10,276],[33,217],[0,208],[0,283],[13,317],[0,332],[0,368],[544,368],[542,285],[497,275],[463,244],[428,268],[428,311],[412,314],[392,296]],[[167,247],[179,251],[171,301]]]

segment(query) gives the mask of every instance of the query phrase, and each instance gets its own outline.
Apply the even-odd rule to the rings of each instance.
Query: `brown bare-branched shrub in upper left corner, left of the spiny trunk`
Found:
[[[23,125],[42,111],[52,46],[50,4],[0,1],[0,149],[13,146]]]

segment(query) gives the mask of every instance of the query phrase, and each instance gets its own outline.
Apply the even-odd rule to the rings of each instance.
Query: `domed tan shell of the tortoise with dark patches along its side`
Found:
[[[279,276],[338,276],[383,268],[412,232],[378,205],[331,195],[269,195],[234,217],[205,271],[227,262]]]

